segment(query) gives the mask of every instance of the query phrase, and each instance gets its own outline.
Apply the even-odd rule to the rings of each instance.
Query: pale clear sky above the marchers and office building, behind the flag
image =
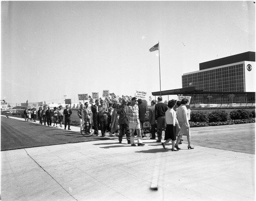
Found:
[[[152,96],[158,41],[162,90],[182,88],[201,62],[255,52],[253,1],[1,3],[1,99],[13,105],[103,90]]]

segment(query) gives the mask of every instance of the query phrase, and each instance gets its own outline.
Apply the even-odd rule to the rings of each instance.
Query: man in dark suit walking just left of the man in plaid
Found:
[[[122,105],[117,107],[117,114],[119,114],[119,143],[122,143],[123,132],[125,132],[125,136],[127,139],[127,143],[130,144],[130,131],[129,131],[129,107],[127,106],[127,101],[122,99]]]

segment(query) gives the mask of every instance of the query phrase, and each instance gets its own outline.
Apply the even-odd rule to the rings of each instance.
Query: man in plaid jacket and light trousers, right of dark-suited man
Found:
[[[142,143],[142,136],[140,130],[140,120],[139,120],[139,107],[137,105],[138,101],[136,97],[132,98],[132,103],[129,106],[129,129],[131,132],[131,144],[132,146],[136,146],[134,143],[134,131],[137,131],[137,139],[138,139],[138,146],[144,146],[145,144]]]

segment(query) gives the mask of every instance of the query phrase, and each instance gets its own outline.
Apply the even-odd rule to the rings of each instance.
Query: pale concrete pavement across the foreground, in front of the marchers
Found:
[[[148,138],[143,143],[132,147],[113,138],[1,152],[1,198],[254,200],[254,155],[188,150],[185,140],[179,152]]]

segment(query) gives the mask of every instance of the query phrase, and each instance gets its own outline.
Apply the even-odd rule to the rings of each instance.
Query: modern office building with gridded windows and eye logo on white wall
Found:
[[[187,87],[209,92],[193,96],[194,103],[255,103],[255,52],[200,63],[198,71],[183,74]]]

